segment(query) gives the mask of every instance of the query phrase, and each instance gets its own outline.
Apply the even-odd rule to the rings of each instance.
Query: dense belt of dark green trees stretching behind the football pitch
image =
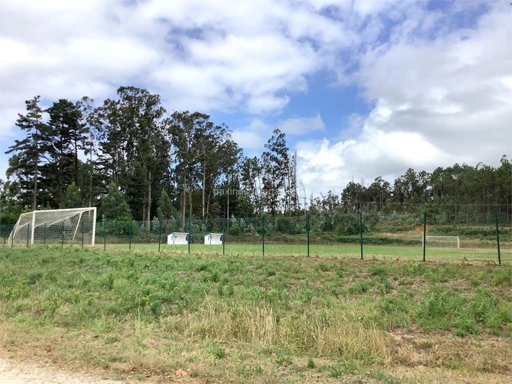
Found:
[[[2,224],[22,211],[78,206],[98,206],[108,220],[140,221],[305,212],[297,155],[283,132],[273,131],[260,157],[246,157],[228,126],[199,112],[168,114],[160,96],[144,89],[121,87],[115,99],[97,105],[88,97],[59,99],[48,109],[35,96],[16,125],[25,137],[7,151]],[[501,206],[509,214],[511,178],[504,155],[498,167],[409,168],[392,183],[377,177],[369,186],[350,182],[340,195],[311,196],[306,208],[336,214],[471,205]]]

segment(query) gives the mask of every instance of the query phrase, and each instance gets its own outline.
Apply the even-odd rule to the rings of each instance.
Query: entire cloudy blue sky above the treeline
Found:
[[[279,128],[307,194],[512,155],[509,1],[3,0],[0,50],[0,178],[25,100],[127,85],[247,156]]]

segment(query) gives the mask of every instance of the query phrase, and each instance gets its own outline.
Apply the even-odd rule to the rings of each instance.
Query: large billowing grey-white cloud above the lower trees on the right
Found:
[[[297,144],[300,177],[308,190],[340,191],[351,179],[392,179],[408,167],[497,164],[501,155],[510,155],[512,29],[507,20],[509,14],[494,9],[475,30],[369,50],[355,76],[367,99],[376,100],[362,130],[350,128],[354,121],[349,120],[349,133],[339,141]]]

